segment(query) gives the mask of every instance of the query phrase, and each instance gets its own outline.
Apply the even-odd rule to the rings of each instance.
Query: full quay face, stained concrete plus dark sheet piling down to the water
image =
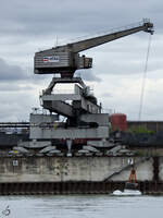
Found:
[[[1,157],[0,195],[110,194],[123,190],[134,158],[143,194],[163,193],[163,157]]]

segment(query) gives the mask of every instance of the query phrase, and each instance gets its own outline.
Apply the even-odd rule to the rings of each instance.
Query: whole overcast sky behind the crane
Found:
[[[0,122],[28,120],[52,75],[34,75],[40,49],[141,22],[154,24],[141,120],[163,120],[163,1],[12,0],[0,7]],[[77,38],[78,37],[78,38]],[[79,72],[103,110],[138,120],[150,35],[141,32],[92,48],[93,68]],[[77,75],[77,73],[76,73]]]

